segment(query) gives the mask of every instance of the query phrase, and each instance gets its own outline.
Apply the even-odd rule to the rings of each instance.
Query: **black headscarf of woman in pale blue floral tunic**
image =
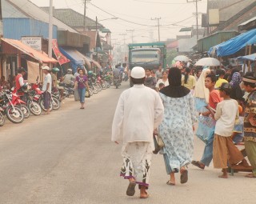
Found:
[[[190,90],[185,86],[182,86],[182,72],[177,67],[170,68],[168,81],[169,86],[160,90],[162,94],[171,98],[182,98],[187,94],[190,94]]]

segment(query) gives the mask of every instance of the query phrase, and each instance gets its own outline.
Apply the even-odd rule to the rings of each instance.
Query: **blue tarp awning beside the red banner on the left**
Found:
[[[77,71],[78,66],[83,67],[84,59],[78,54],[78,50],[63,48],[61,46],[58,48],[66,58],[70,59],[70,64],[74,73]]]

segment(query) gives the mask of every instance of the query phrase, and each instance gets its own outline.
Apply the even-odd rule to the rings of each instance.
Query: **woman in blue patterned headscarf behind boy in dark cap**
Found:
[[[233,98],[234,100],[238,101],[238,104],[241,104],[243,102],[243,91],[240,87],[240,83],[242,82],[241,75],[239,72],[234,72],[232,75],[230,85],[232,87],[232,90],[230,92],[230,98]]]

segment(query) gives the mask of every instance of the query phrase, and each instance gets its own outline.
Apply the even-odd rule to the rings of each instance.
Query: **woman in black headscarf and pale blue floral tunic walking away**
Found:
[[[164,118],[158,133],[165,146],[162,154],[170,180],[167,185],[175,185],[175,173],[180,171],[181,183],[188,180],[187,165],[192,161],[194,150],[194,125],[197,122],[194,110],[194,98],[190,90],[182,86],[182,73],[176,67],[170,68],[170,85],[160,90],[164,104]]]

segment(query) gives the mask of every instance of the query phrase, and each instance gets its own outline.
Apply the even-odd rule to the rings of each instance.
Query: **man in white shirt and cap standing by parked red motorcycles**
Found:
[[[43,66],[42,70],[43,70],[43,73],[46,74],[42,84],[43,106],[46,109],[46,114],[50,114],[50,98],[51,98],[51,86],[52,86],[52,79],[50,76],[50,67]]]

